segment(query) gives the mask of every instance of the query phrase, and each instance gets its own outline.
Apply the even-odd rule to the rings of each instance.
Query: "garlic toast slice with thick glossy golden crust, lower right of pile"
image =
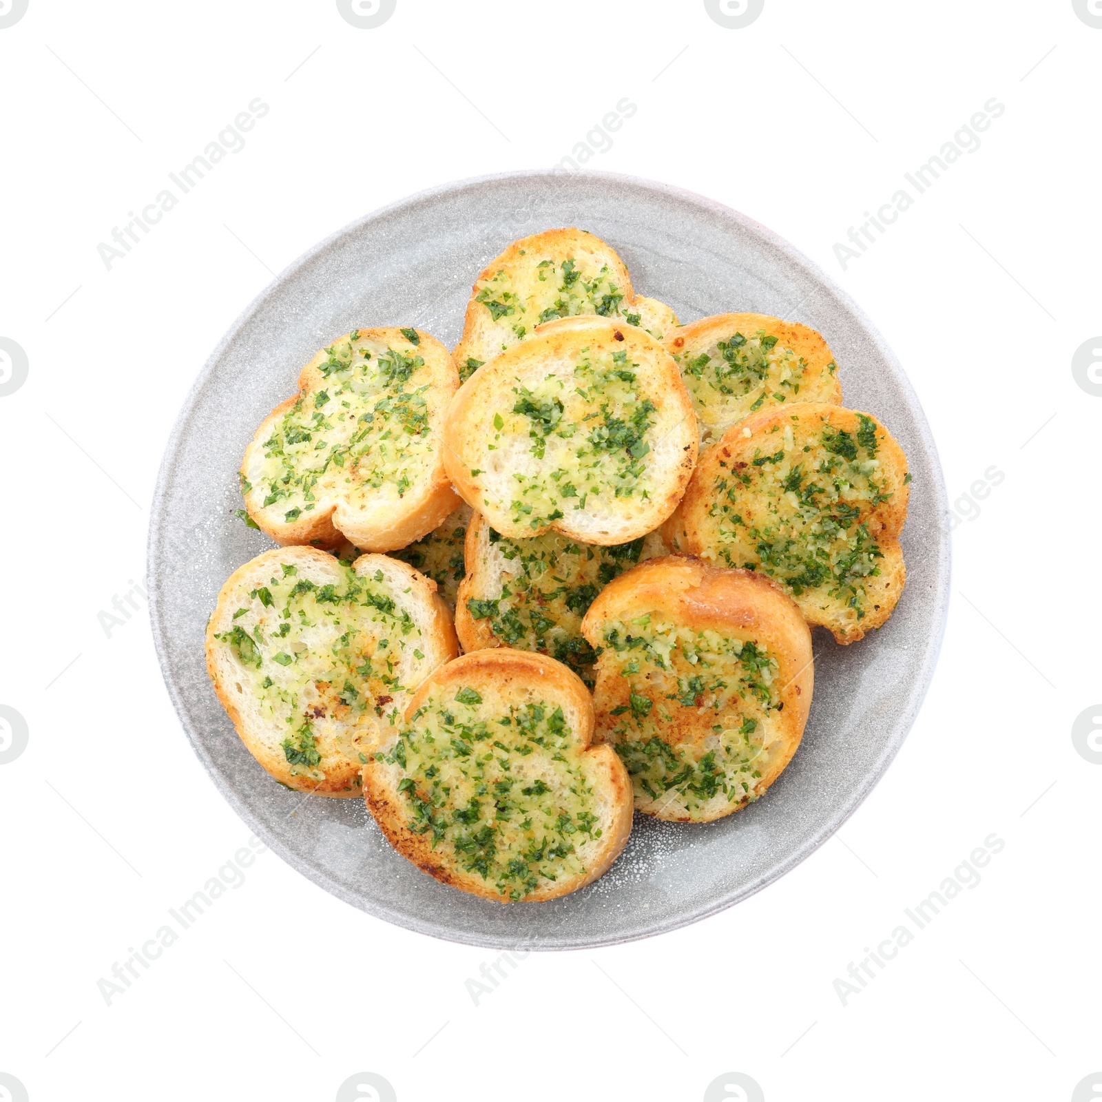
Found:
[[[639,811],[710,822],[791,760],[811,707],[811,633],[778,585],[699,559],[651,559],[582,622],[598,648],[596,738],[616,747]]]

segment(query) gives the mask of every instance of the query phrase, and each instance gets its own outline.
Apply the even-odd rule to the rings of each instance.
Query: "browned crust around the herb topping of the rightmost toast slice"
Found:
[[[906,566],[899,532],[907,519],[910,496],[906,477],[907,457],[898,442],[871,413],[841,406],[800,402],[764,409],[732,425],[701,454],[680,506],[663,526],[662,536],[667,544],[674,551],[722,564],[724,551],[735,544],[720,537],[715,509],[716,480],[727,478],[734,484],[735,474],[753,469],[755,457],[760,460],[763,454],[781,446],[778,440],[788,429],[793,431],[796,454],[800,456],[803,441],[818,439],[824,429],[856,437],[862,418],[868,418],[876,426],[878,476],[884,479],[888,495],[875,506],[863,507],[861,518],[855,522],[867,528],[883,553],[883,559],[878,561],[879,574],[865,579],[868,599],[865,602],[867,607],[863,609],[864,616],[858,618],[846,598],[824,597],[820,590],[806,588],[802,594],[793,593],[792,596],[808,623],[830,629],[836,642],[850,644],[864,638],[866,633],[887,622],[903,593]],[[734,496],[725,497],[723,504],[730,501],[732,511],[742,518],[745,530],[767,522],[767,503],[758,495],[741,493],[737,485],[732,485],[730,494]],[[741,563],[760,564],[753,547],[738,544],[737,550]]]

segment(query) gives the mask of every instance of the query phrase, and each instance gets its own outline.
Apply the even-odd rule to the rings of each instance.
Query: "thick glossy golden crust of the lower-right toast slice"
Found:
[[[754,641],[776,659],[778,669],[773,684],[782,707],[770,721],[769,754],[748,797],[757,799],[791,760],[811,709],[814,689],[811,633],[799,609],[780,586],[753,571],[727,570],[692,557],[669,555],[640,563],[609,582],[586,613],[582,631],[591,646],[602,647],[606,645],[607,624],[630,625],[648,616],[694,633],[714,631],[722,638]],[[689,672],[695,668],[689,668]],[[650,689],[649,678],[650,674],[645,674],[639,685],[641,691],[653,693],[657,690]],[[623,728],[620,716],[629,712],[635,691],[619,653],[606,648],[597,660],[594,692],[597,741],[613,745],[620,742],[616,731]],[[665,692],[658,695],[663,701],[668,699]],[[659,737],[674,748],[685,744],[706,745],[717,715],[723,713],[700,706],[703,699],[698,698],[695,707],[667,705],[670,714],[668,720],[663,716],[657,728]],[[656,799],[636,789],[636,809],[673,822],[710,822],[748,802],[747,798],[734,802],[721,797],[690,812],[677,801],[677,796],[673,790]]]

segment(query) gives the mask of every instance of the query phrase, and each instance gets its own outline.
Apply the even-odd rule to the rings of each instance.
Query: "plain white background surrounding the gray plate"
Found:
[[[375,30],[332,0],[30,0],[0,29],[0,336],[30,364],[0,397],[0,704],[30,733],[0,765],[0,1072],[31,1102],[329,1102],[360,1071],[401,1102],[695,1102],[732,1071],[768,1102],[1071,1099],[1102,1069],[1102,765],[1071,739],[1102,700],[1102,397],[1071,372],[1102,333],[1100,61],[1070,0],[766,0],[742,30],[699,0],[398,0]],[[181,730],[144,605],[110,638],[97,618],[144,573],[192,381],[321,238],[549,168],[625,96],[637,114],[586,166],[792,241],[926,409],[971,519],[903,752],[748,901],[533,953],[477,1006],[465,982],[495,953],[377,921],[271,853],[107,1005],[97,981],[249,835]],[[246,147],[108,271],[97,245],[255,97]],[[843,271],[834,244],[991,97],[982,145]],[[843,1005],[834,980],[992,833],[982,882]]]

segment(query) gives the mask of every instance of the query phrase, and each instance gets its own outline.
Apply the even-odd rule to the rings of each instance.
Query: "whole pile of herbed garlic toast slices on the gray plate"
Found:
[[[287,788],[363,797],[443,883],[539,901],[633,809],[707,822],[799,746],[811,627],[904,586],[907,462],[807,326],[681,325],[577,229],[510,245],[449,353],[361,328],[245,453],[280,547],[223,586],[207,668]]]

